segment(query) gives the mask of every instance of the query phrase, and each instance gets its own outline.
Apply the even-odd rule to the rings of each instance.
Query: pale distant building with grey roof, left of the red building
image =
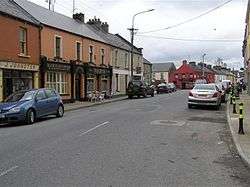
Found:
[[[153,81],[160,81],[168,83],[170,74],[176,70],[174,63],[153,63],[152,79]]]

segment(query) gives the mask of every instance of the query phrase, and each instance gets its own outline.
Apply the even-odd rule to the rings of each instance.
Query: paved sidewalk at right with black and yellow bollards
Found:
[[[239,103],[244,103],[244,132],[245,135],[238,134],[239,128]],[[240,95],[240,100],[236,100],[236,110],[238,114],[233,114],[233,105],[227,103],[228,124],[233,136],[234,144],[240,157],[247,166],[250,167],[250,96],[246,93]]]

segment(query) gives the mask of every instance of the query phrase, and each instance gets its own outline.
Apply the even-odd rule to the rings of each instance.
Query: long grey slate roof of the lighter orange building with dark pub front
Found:
[[[93,32],[85,23],[76,21],[73,18],[70,18],[63,14],[50,11],[42,6],[39,6],[27,0],[14,1],[44,25],[58,28],[70,33],[85,36],[87,38],[91,38],[105,43],[105,41],[95,32]]]

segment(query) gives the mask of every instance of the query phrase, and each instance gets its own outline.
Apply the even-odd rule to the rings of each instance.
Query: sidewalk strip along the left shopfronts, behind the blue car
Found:
[[[97,102],[90,102],[90,101],[83,101],[83,102],[75,102],[75,103],[68,103],[64,104],[64,110],[67,111],[72,111],[72,110],[77,110],[80,108],[87,108],[91,106],[96,106],[96,105],[102,105],[106,103],[111,103],[111,102],[116,102],[116,101],[122,101],[127,99],[127,96],[117,96],[112,99],[105,99],[103,102],[97,101]]]

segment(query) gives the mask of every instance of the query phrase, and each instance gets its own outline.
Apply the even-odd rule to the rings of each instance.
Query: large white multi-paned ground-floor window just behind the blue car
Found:
[[[67,94],[67,74],[61,72],[47,72],[46,88],[55,89],[59,94]]]

